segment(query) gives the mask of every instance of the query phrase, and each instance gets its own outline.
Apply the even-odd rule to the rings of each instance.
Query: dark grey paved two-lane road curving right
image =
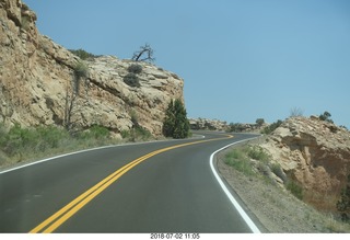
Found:
[[[0,173],[0,232],[252,232],[210,164],[252,135],[114,146]]]

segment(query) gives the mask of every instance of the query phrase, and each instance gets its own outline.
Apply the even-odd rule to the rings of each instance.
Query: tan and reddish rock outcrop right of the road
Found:
[[[305,202],[320,209],[336,209],[350,174],[350,132],[315,116],[293,117],[261,147],[303,187]]]

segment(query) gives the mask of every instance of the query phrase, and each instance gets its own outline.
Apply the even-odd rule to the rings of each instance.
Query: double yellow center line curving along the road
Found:
[[[189,145],[196,145],[196,144],[202,144],[207,141],[214,141],[214,140],[221,140],[221,139],[228,139],[232,138],[233,136],[226,135],[224,138],[214,138],[214,139],[208,139],[208,140],[199,140],[194,142],[187,142],[182,145],[175,145],[167,148],[162,148],[155,151],[152,151],[148,155],[144,155],[130,163],[124,165],[122,168],[118,169],[101,182],[98,182],[93,187],[89,188],[86,192],[78,196],[75,199],[67,204],[65,207],[62,207],[60,210],[55,213],[52,216],[44,220],[42,224],[39,224],[37,227],[33,228],[30,232],[31,233],[38,233],[38,232],[45,232],[49,233],[55,231],[59,226],[61,226],[65,221],[67,221],[70,217],[72,217],[78,210],[80,210],[82,207],[84,207],[89,202],[91,202],[94,197],[96,197],[100,193],[102,193],[105,188],[107,188],[110,184],[116,182],[121,175],[124,175],[126,172],[128,172],[130,169],[136,167],[137,164],[141,163],[142,161],[159,155],[164,151],[168,151],[175,148],[180,148]]]

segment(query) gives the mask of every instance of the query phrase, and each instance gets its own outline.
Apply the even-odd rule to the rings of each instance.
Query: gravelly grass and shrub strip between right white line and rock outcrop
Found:
[[[247,144],[232,147],[219,155],[219,159],[225,164],[218,163],[218,168],[230,185],[240,194],[240,197],[270,231],[350,232],[348,224],[338,221],[331,214],[317,212],[300,202],[303,198],[303,188],[295,181],[288,179],[278,163],[265,162],[266,152],[261,153],[261,151],[264,152],[259,147]],[[249,159],[249,156],[260,160],[255,162],[257,159]],[[233,168],[224,170],[222,165]],[[291,198],[288,192],[277,187],[277,184],[270,184],[271,181],[267,181],[270,179],[264,172],[266,169],[270,169],[279,176],[288,192],[295,197]],[[350,192],[350,184],[348,186]],[[343,191],[343,193],[346,192]],[[261,208],[261,206],[264,207]],[[349,210],[349,208],[347,209]]]

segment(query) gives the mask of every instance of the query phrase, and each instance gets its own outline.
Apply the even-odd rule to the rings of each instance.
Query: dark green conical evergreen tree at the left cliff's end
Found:
[[[171,101],[163,122],[165,137],[186,138],[189,135],[189,122],[184,104],[180,100]]]

